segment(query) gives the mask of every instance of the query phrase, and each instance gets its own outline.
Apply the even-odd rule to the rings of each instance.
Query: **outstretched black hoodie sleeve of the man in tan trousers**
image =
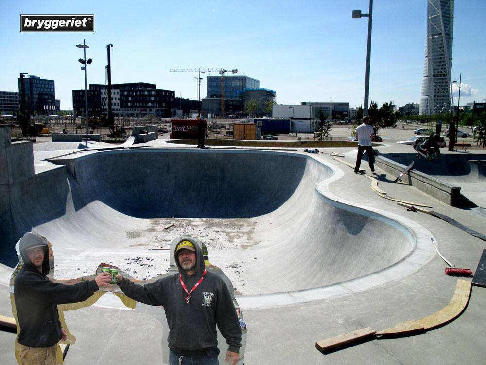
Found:
[[[82,302],[93,295],[99,288],[96,281],[67,285],[44,280],[37,275],[25,275],[16,282],[18,291],[31,300],[42,304],[68,304]]]

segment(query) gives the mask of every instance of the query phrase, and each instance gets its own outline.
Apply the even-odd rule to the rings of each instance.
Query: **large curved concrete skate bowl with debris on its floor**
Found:
[[[364,277],[395,267],[416,247],[416,235],[396,220],[319,192],[334,172],[303,154],[157,149],[76,156],[51,160],[60,167],[13,192],[15,233],[48,237],[60,267],[94,260],[123,267],[123,250],[163,247],[176,236],[163,219],[198,220],[197,232],[188,226],[186,233],[206,243],[216,265],[241,262],[228,276],[242,295]],[[225,228],[234,222],[243,222],[244,232]],[[379,276],[373,285],[393,275]]]

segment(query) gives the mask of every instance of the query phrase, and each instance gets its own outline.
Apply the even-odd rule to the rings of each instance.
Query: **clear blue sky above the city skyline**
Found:
[[[3,1],[0,90],[18,91],[25,72],[55,81],[61,108],[84,88],[75,47],[86,39],[89,83],[149,82],[196,98],[196,73],[172,68],[238,69],[277,92],[278,104],[363,103],[368,0]],[[485,0],[455,0],[452,79],[462,73],[461,105],[486,98]],[[94,33],[20,33],[20,14],[94,14]],[[370,99],[420,102],[427,0],[375,0]],[[203,74],[201,96],[206,96]],[[216,75],[216,73],[211,73]],[[457,97],[454,98],[457,103]]]

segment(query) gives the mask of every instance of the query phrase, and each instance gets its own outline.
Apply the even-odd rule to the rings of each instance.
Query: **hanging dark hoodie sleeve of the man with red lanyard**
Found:
[[[242,346],[242,329],[240,327],[240,320],[236,315],[235,305],[224,283],[221,293],[218,295],[216,323],[221,334],[226,339],[228,351],[239,353],[240,347]]]

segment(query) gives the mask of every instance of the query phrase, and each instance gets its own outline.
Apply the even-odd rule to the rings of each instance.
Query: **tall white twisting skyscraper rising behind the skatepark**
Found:
[[[451,109],[454,0],[427,0],[427,43],[420,115]]]

